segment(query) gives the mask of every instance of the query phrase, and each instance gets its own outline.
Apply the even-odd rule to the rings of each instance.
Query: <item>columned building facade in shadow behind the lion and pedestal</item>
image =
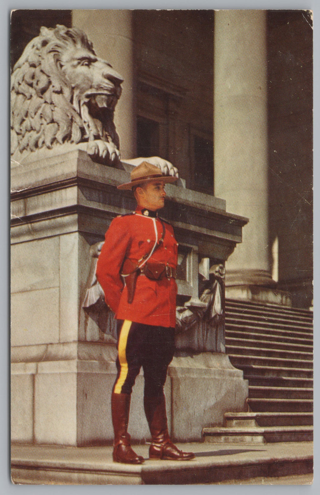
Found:
[[[58,23],[83,29],[124,78],[115,111],[121,156],[168,159],[187,188],[249,218],[226,265],[227,294],[310,307],[309,13],[18,10],[12,63],[41,25]]]

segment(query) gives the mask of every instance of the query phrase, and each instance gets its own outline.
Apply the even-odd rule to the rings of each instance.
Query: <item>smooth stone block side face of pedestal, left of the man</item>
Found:
[[[77,233],[11,247],[11,346],[78,339]]]

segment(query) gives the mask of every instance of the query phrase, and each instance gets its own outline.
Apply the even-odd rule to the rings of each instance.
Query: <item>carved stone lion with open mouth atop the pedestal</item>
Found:
[[[78,29],[42,27],[24,49],[11,76],[11,157],[63,145],[87,151],[94,161],[116,165],[119,137],[113,122],[122,77],[99,58]],[[178,176],[159,157],[147,159],[165,174]]]

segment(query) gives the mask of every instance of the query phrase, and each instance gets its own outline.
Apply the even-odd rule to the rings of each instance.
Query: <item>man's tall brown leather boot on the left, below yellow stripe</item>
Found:
[[[111,395],[111,414],[114,431],[113,460],[124,464],[142,464],[144,458],[137,455],[130,446],[130,435],[127,432],[130,411],[128,394]]]

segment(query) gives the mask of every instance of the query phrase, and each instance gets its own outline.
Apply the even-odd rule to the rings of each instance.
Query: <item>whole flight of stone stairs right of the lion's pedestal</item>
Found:
[[[313,313],[226,300],[226,353],[249,381],[248,412],[204,428],[209,442],[313,440]]]

